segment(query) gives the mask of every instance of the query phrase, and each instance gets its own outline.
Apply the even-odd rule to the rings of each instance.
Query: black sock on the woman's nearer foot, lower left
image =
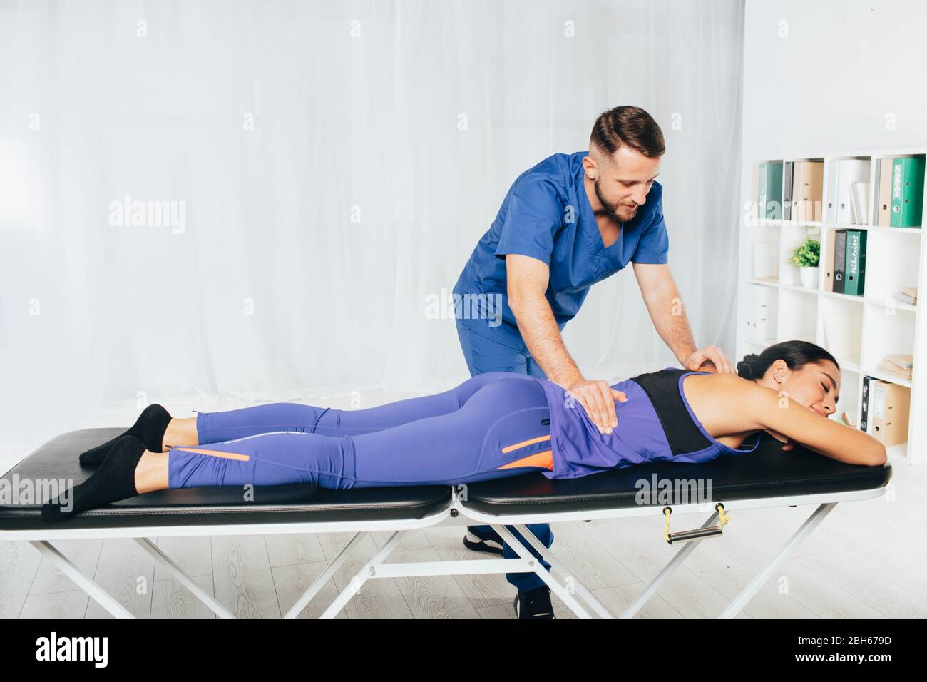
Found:
[[[145,451],[145,444],[134,436],[122,436],[93,476],[42,506],[43,521],[68,519],[84,509],[138,495],[135,469]]]

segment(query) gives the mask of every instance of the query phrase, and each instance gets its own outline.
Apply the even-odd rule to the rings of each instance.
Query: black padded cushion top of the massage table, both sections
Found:
[[[72,480],[82,483],[93,470],[83,469],[78,455],[108,441],[120,429],[86,429],[64,433],[44,444],[4,475],[19,480]],[[493,515],[546,511],[584,511],[633,508],[639,501],[640,482],[711,482],[711,500],[751,499],[870,490],[884,486],[892,467],[862,467],[837,462],[800,446],[790,452],[768,435],[756,451],[738,457],[721,457],[705,464],[655,462],[627,469],[603,471],[578,479],[550,481],[540,473],[469,483],[461,488],[464,507]],[[670,505],[685,502],[684,488],[672,489]],[[659,489],[657,489],[659,492]],[[161,490],[137,495],[105,508],[88,509],[60,528],[105,528],[148,525],[222,525],[323,521],[374,521],[422,519],[447,508],[450,486],[362,488],[325,490],[312,485],[256,486],[254,500],[243,499],[237,486]],[[662,507],[664,498],[646,498],[645,505]],[[26,530],[50,527],[37,506],[0,505],[0,529]]]

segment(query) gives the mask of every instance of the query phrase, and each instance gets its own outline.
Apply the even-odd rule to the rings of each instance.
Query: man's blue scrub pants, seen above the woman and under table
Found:
[[[519,372],[529,374],[532,377],[546,378],[543,370],[540,368],[534,358],[526,350],[519,350],[514,347],[516,343],[524,347],[521,337],[517,341],[512,341],[512,346],[505,343],[507,339],[512,339],[514,332],[506,324],[502,323],[498,327],[489,327],[488,320],[464,320],[461,317],[456,318],[457,336],[461,341],[461,348],[464,349],[464,358],[466,359],[467,368],[470,370],[470,376],[483,374],[485,372]],[[490,526],[476,526],[483,532],[489,532]],[[513,526],[506,526],[509,532],[527,547],[531,553],[540,559],[538,552],[527,544],[522,534],[518,533]],[[544,547],[551,547],[553,543],[553,533],[548,523],[532,523],[528,525],[531,533],[535,534]],[[506,559],[517,559],[514,549],[503,545],[503,555]],[[551,564],[547,561],[540,561],[545,568],[550,570]],[[535,589],[544,585],[544,582],[534,573],[506,573],[505,579],[519,590]]]

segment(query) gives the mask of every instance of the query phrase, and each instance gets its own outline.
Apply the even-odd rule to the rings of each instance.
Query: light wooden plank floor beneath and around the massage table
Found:
[[[398,398],[394,394],[375,396],[364,406],[390,399]],[[342,406],[340,402],[330,400],[324,404]],[[222,405],[218,409],[235,406],[240,405]],[[184,414],[174,409],[171,413]],[[113,415],[109,423],[131,424],[136,415]],[[104,425],[96,420],[94,424],[66,426]],[[26,448],[7,441],[6,446],[12,457],[14,450],[29,452],[34,444]],[[923,519],[927,467],[911,467],[904,460],[893,464],[890,498],[837,505],[753,598],[741,617],[927,617],[927,533]],[[806,507],[731,512],[724,536],[697,547],[640,615],[717,615],[810,511]],[[692,515],[674,515],[673,528],[695,527],[703,521]],[[390,561],[485,558],[464,548],[463,533],[462,528],[412,532],[403,538]],[[570,571],[616,613],[677,551],[663,540],[663,521],[656,517],[557,523],[553,533],[554,548]],[[359,554],[369,557],[374,545],[382,546],[387,536],[381,533],[368,537]],[[157,542],[236,615],[277,618],[295,603],[348,540],[349,535],[338,534],[159,538]],[[55,544],[136,616],[211,615],[131,540]],[[319,615],[346,584],[346,576],[356,573],[361,565],[360,556],[349,560],[302,616]],[[511,618],[513,598],[514,588],[502,575],[377,579],[364,585],[340,616]],[[559,617],[571,615],[556,599],[554,609]],[[107,616],[31,546],[0,542],[0,617]]]

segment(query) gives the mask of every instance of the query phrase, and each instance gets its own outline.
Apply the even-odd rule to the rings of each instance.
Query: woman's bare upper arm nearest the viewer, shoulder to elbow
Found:
[[[847,464],[875,467],[888,458],[885,446],[870,434],[823,417],[784,393],[739,377],[730,377],[728,383],[731,410],[741,412],[752,429],[778,431],[820,455]]]

